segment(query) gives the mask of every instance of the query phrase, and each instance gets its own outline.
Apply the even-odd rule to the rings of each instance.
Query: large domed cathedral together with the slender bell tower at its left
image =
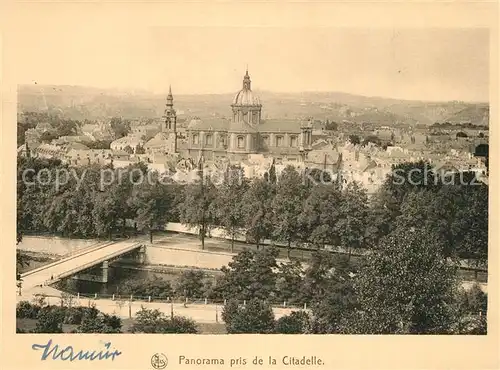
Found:
[[[250,154],[272,156],[277,160],[304,161],[312,147],[312,124],[300,120],[262,119],[262,104],[252,91],[248,70],[243,86],[231,103],[230,118],[190,121],[186,138],[179,145],[177,117],[169,91],[162,132],[164,149],[182,158],[232,162],[246,160]]]

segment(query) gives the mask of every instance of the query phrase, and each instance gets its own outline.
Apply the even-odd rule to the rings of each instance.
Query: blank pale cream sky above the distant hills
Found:
[[[336,91],[488,101],[486,29],[105,27],[20,29],[18,83],[230,93]]]

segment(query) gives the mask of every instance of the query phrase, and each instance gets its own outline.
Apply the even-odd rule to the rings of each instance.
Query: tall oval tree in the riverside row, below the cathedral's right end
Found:
[[[303,208],[305,187],[302,177],[292,166],[286,167],[276,185],[276,195],[272,201],[272,236],[287,243],[288,258],[292,242],[301,234],[299,217]]]

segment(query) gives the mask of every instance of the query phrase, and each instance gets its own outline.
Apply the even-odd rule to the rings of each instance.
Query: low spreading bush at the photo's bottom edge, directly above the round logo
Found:
[[[158,309],[150,310],[141,307],[136,313],[135,322],[130,328],[132,333],[156,333],[156,334],[196,334],[198,332],[196,323],[182,316],[167,318]]]

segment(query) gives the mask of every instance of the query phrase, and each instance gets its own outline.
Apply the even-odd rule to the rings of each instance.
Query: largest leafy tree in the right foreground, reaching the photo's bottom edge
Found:
[[[456,318],[456,267],[425,229],[397,227],[367,256],[355,282],[360,309],[350,322],[363,334],[448,333]]]

